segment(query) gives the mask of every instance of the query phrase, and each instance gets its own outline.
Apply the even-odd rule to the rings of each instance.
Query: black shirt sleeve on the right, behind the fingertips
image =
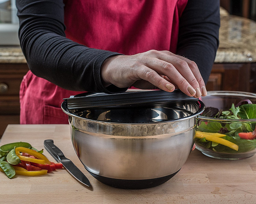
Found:
[[[188,0],[179,26],[177,54],[196,62],[206,84],[219,46],[220,1]]]

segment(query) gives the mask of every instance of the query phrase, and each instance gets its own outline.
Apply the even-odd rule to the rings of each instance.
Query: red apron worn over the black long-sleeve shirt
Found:
[[[187,1],[64,0],[66,36],[87,47],[125,55],[150,49],[175,53],[179,17]],[[20,85],[20,124],[68,123],[60,105],[63,98],[78,93],[28,71]]]

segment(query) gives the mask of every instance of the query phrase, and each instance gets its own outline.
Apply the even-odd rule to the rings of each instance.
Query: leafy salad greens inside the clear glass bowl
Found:
[[[208,107],[205,108],[202,116],[216,118],[216,121],[199,121],[197,125],[197,130],[207,133],[221,133],[225,134],[221,138],[228,140],[230,142],[238,145],[239,149],[236,151],[225,145],[218,144],[216,142],[211,142],[205,140],[205,138],[196,138],[197,144],[211,149],[216,152],[226,152],[226,153],[242,153],[248,152],[256,148],[256,139],[248,140],[242,139],[238,135],[239,133],[252,132],[256,126],[256,104],[242,104],[239,106],[232,104],[229,110],[218,110],[217,108]],[[254,121],[241,121],[241,122],[226,122],[218,121],[219,119],[255,119]]]

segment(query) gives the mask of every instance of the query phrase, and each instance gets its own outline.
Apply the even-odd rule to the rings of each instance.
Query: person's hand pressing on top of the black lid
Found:
[[[196,63],[169,51],[109,57],[101,66],[101,78],[105,87],[114,84],[119,88],[134,86],[168,92],[179,88],[188,96],[207,95]]]

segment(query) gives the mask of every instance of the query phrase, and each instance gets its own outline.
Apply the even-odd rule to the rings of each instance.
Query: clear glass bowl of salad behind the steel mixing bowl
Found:
[[[237,91],[208,91],[207,96],[200,99],[206,109],[198,116],[196,149],[204,155],[216,159],[238,160],[253,156],[256,153],[256,139],[242,139],[238,133],[253,131],[256,126],[256,118],[225,119],[203,115],[209,110],[208,107],[229,110],[232,104],[236,106],[244,99],[249,99],[252,104],[256,104],[256,94]],[[248,109],[246,111],[248,112]],[[247,113],[246,111],[245,113]],[[254,115],[256,109],[251,109],[250,113],[252,112]],[[216,137],[220,139],[216,139]]]

